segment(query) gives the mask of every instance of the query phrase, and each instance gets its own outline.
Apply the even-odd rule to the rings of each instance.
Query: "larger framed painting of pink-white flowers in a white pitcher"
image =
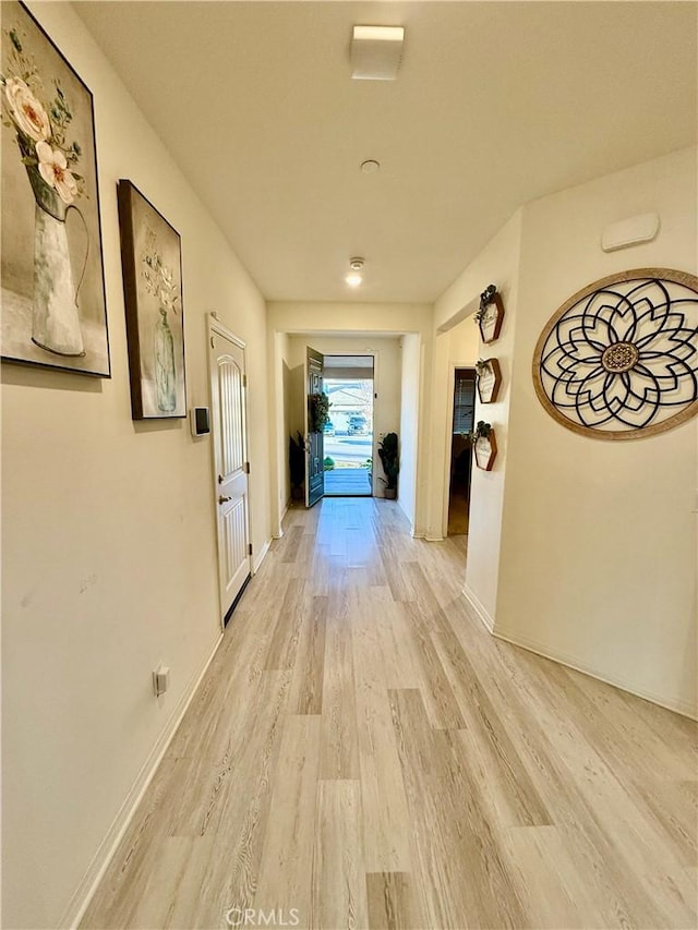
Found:
[[[0,354],[110,377],[92,94],[25,7],[2,26]]]

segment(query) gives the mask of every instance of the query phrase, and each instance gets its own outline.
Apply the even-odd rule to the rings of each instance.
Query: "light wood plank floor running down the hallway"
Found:
[[[493,639],[464,546],[291,510],[82,926],[695,928],[695,725]]]

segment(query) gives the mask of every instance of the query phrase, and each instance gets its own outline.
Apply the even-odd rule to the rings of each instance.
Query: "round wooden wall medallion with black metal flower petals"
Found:
[[[698,278],[638,268],[570,297],[543,329],[533,385],[550,415],[594,439],[638,439],[698,413]]]

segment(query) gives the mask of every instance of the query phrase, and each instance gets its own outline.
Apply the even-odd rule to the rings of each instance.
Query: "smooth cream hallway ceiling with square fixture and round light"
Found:
[[[522,203],[696,140],[694,2],[75,9],[269,300],[432,301]],[[396,82],[353,24],[406,27]]]

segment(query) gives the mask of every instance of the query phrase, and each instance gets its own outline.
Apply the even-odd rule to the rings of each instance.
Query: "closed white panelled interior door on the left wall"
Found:
[[[252,571],[246,375],[244,343],[215,321],[210,323],[209,346],[218,580],[221,616],[226,618]]]

